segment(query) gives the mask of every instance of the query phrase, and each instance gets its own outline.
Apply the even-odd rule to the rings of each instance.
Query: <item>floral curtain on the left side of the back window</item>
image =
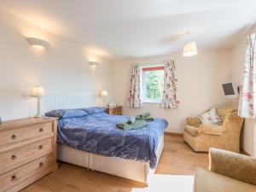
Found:
[[[131,68],[130,91],[128,96],[128,102],[131,108],[141,107],[140,94],[140,67],[135,65]]]

